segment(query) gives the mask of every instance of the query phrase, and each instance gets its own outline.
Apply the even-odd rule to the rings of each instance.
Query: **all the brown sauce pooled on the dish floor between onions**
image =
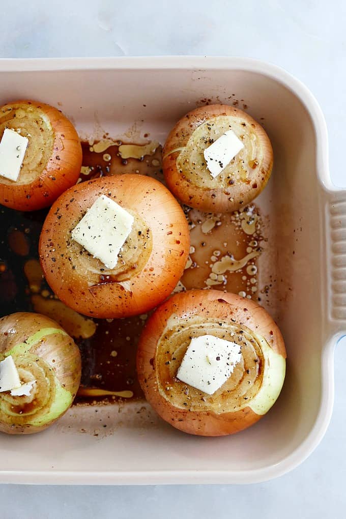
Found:
[[[82,143],[82,151],[78,183],[121,173],[149,175],[163,181],[162,147],[157,142],[129,144],[105,136],[99,142]],[[184,274],[174,292],[212,288],[257,300],[256,261],[264,239],[255,204],[231,214],[202,213],[186,206],[183,209],[191,247]],[[37,311],[58,321],[74,337],[82,357],[81,388],[76,404],[143,398],[135,358],[148,316],[91,319],[57,299],[38,262],[39,233],[47,212],[0,209],[0,315]]]

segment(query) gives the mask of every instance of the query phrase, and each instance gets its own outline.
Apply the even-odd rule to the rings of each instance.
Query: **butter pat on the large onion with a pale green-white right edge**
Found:
[[[177,378],[207,394],[223,386],[241,360],[239,344],[213,335],[193,337]]]

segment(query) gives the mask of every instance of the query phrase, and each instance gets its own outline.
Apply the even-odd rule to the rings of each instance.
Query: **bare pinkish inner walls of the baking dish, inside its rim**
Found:
[[[148,133],[163,144],[176,120],[196,106],[245,105],[274,149],[271,180],[256,199],[268,239],[258,260],[259,286],[267,287],[261,304],[278,323],[288,356],[278,402],[244,432],[218,439],[189,436],[141,401],[73,407],[43,433],[2,435],[3,474],[46,471],[53,481],[54,474],[70,472],[68,483],[81,481],[72,473],[99,472],[121,483],[126,473],[163,471],[168,476],[157,483],[164,483],[173,472],[241,473],[282,462],[313,429],[322,398],[321,188],[315,131],[305,106],[278,80],[242,70],[7,72],[2,85],[3,104],[32,98],[58,106],[82,139],[102,139],[108,132],[141,143]],[[184,476],[179,481],[186,482]],[[41,482],[49,483],[49,477]]]

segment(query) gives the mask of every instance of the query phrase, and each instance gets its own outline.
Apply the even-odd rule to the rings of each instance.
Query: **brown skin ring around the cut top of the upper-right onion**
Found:
[[[186,146],[191,135],[206,121],[213,122],[215,117],[227,116],[242,120],[255,133],[264,156],[258,167],[251,173],[251,182],[225,183],[215,187],[201,187],[189,182],[177,167],[177,159]],[[245,130],[244,130],[245,131]],[[178,151],[174,151],[177,150]],[[183,203],[190,207],[207,212],[233,212],[244,208],[256,198],[266,186],[273,166],[273,150],[265,130],[250,115],[239,108],[219,104],[207,105],[192,110],[182,117],[171,130],[162,150],[162,169],[170,191]],[[195,168],[193,168],[195,169]],[[205,169],[205,168],[204,168]],[[198,166],[196,166],[196,173]],[[211,178],[211,177],[210,177]]]

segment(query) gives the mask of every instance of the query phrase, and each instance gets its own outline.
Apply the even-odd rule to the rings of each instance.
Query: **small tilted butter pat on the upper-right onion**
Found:
[[[243,147],[244,144],[238,139],[233,130],[228,130],[213,144],[205,148],[203,155],[206,167],[209,169],[213,179],[228,166],[230,161],[238,155]]]

